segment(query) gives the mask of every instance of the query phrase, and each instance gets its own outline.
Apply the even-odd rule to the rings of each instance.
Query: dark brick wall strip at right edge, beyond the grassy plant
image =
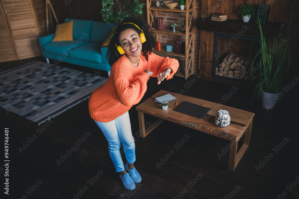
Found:
[[[290,39],[291,67],[298,68],[299,62],[299,1],[293,0],[289,26],[287,29],[287,39]]]

